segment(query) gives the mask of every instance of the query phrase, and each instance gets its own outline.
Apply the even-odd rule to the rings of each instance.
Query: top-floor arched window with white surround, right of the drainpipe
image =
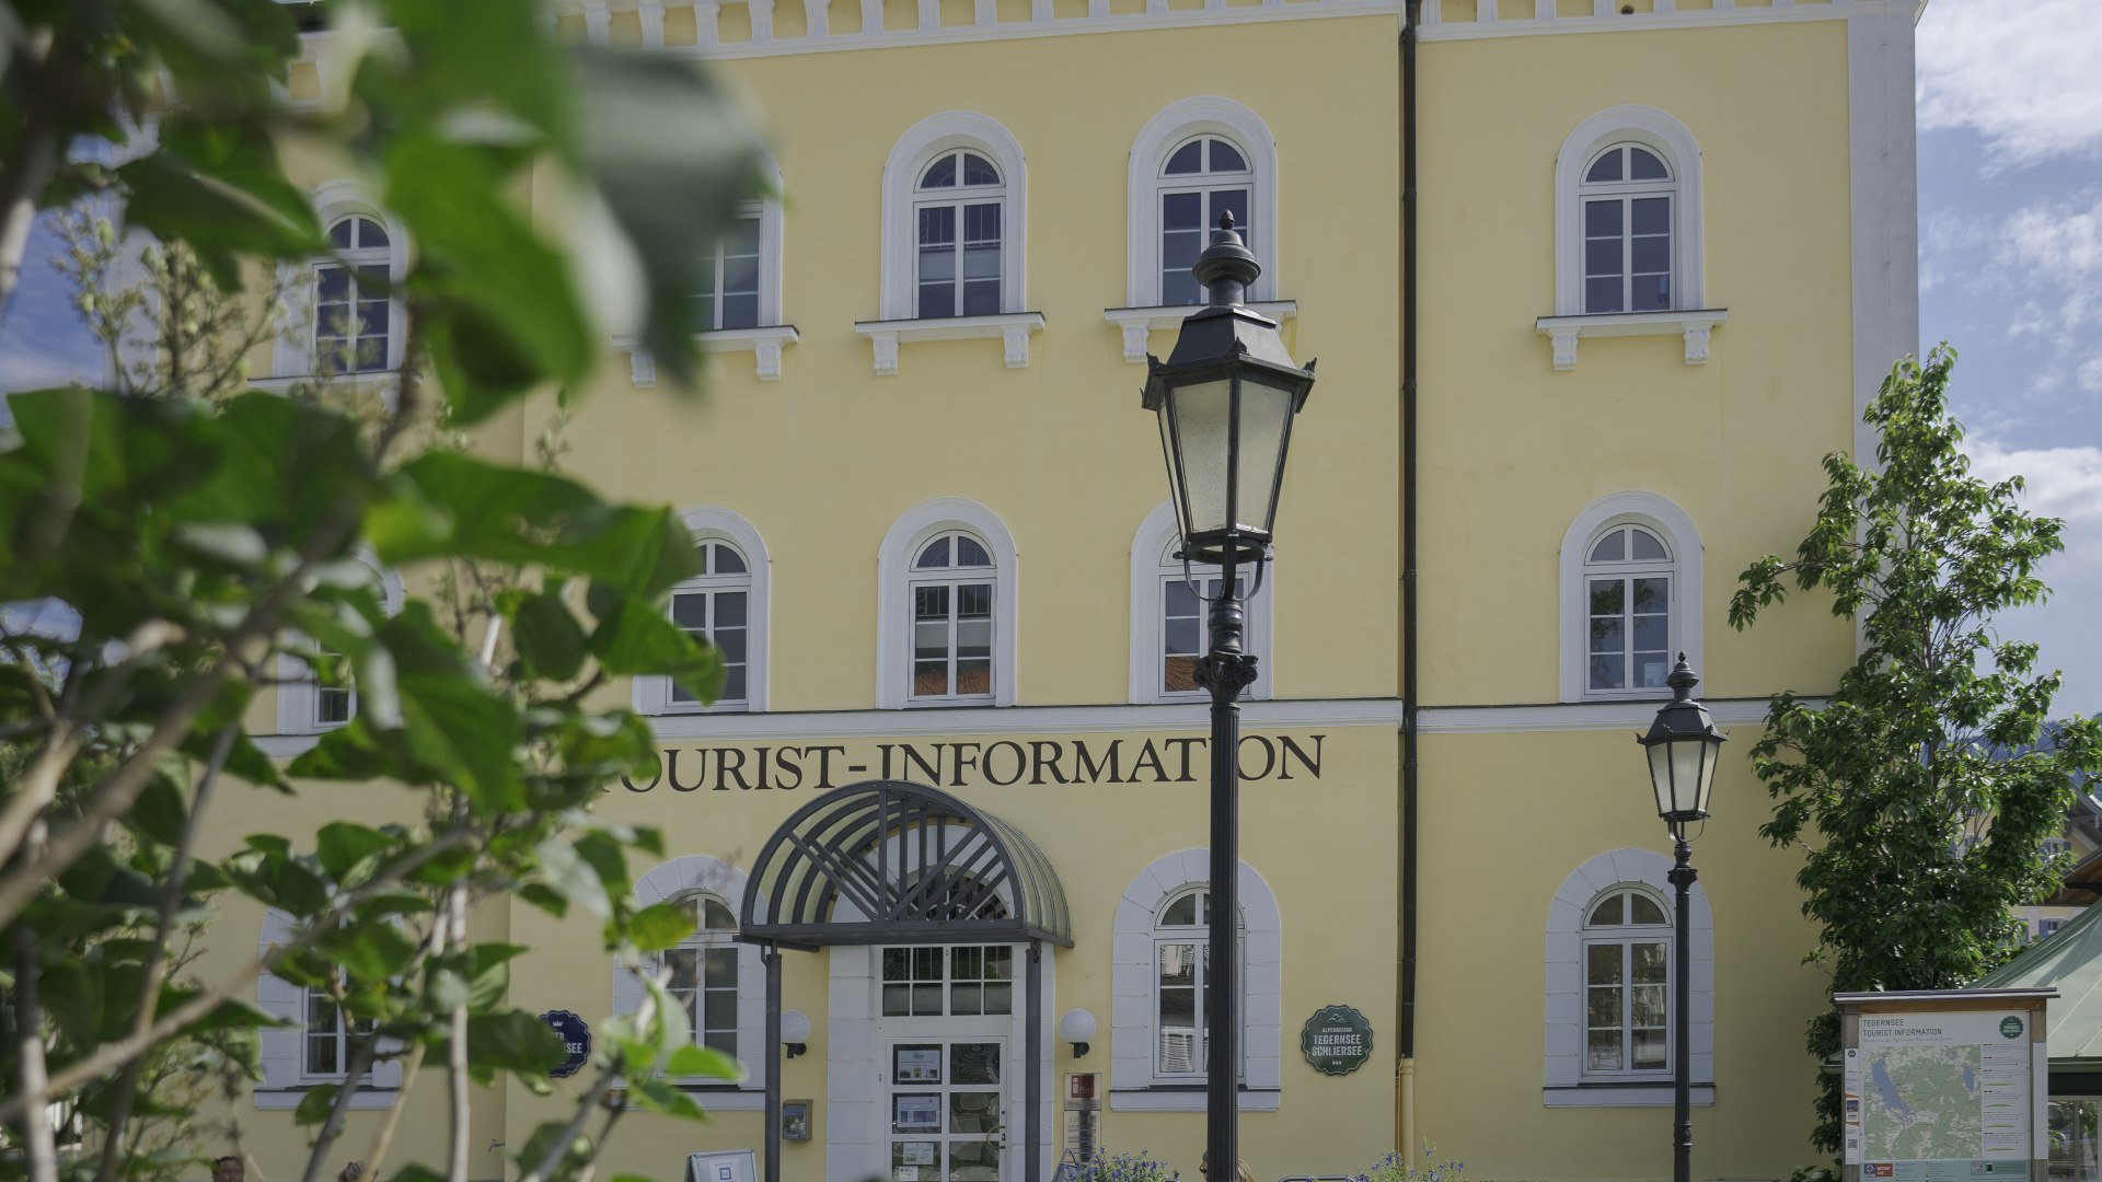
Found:
[[[1576,124],[1555,158],[1555,315],[1705,307],[1701,147],[1656,107]]]

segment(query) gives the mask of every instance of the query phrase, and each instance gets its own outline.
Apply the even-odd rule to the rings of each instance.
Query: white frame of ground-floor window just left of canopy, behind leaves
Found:
[[[744,900],[744,871],[708,854],[683,854],[635,879],[635,900],[641,906],[656,902],[706,900],[719,902],[734,919]],[[765,1106],[767,1085],[767,967],[759,955],[759,944],[736,940],[736,930],[696,930],[683,949],[734,951],[736,953],[736,1020],[725,1028],[736,1031],[736,1058],[744,1066],[744,1079],[696,1079],[692,1087],[708,1092],[702,1100],[708,1108],[757,1110]],[[647,997],[643,982],[628,970],[614,965],[614,1014],[633,1014]],[[696,1026],[694,1041],[706,1045],[706,1024]],[[723,1039],[719,1039],[721,1043]]]

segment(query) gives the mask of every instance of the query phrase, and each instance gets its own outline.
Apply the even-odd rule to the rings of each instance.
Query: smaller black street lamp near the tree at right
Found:
[[[1686,665],[1686,654],[1665,679],[1671,686],[1671,700],[1656,709],[1650,734],[1637,736],[1650,757],[1650,789],[1656,793],[1656,816],[1671,829],[1673,854],[1671,888],[1675,906],[1671,911],[1671,1182],[1690,1182],[1694,1155],[1692,1119],[1692,1052],[1688,1033],[1688,936],[1686,936],[1686,892],[1694,885],[1694,848],[1686,839],[1686,827],[1707,820],[1709,791],[1715,787],[1715,763],[1726,742],[1726,734],[1715,730],[1715,719],[1707,707],[1694,700],[1694,686],[1701,677]]]

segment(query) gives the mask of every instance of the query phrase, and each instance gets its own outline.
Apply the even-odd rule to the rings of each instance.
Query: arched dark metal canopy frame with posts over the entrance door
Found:
[[[790,814],[759,850],[738,940],[761,944],[767,965],[765,1182],[782,1176],[782,949],[1028,944],[1022,1178],[1043,1178],[1043,946],[1072,946],[1072,915],[1051,860],[1026,833],[927,784],[834,789]]]

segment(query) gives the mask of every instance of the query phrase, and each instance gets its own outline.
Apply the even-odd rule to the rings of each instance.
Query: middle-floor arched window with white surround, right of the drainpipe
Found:
[[[1658,698],[1701,663],[1701,532],[1654,492],[1591,503],[1562,534],[1562,700]]]

